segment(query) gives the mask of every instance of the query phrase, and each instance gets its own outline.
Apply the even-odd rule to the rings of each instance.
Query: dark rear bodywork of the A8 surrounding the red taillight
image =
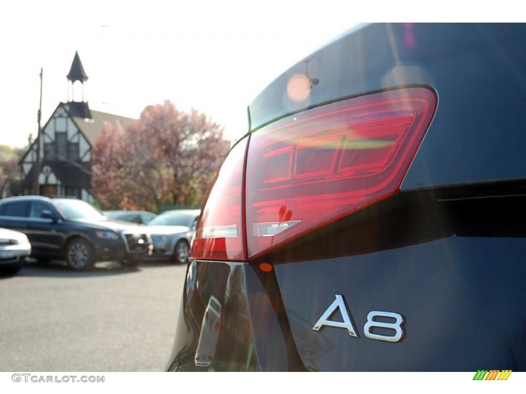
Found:
[[[524,25],[361,26],[262,91],[253,133],[389,89],[427,87],[438,107],[399,193],[248,262],[191,262],[170,369],[526,370],[525,44]],[[294,75],[312,84],[299,102]],[[313,330],[336,295],[356,336]],[[196,367],[211,296],[217,346]],[[372,311],[401,315],[402,339],[367,337]]]

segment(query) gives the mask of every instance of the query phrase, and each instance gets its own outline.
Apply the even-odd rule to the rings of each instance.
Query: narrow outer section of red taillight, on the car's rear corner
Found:
[[[232,148],[217,174],[197,224],[191,258],[246,259],[242,188],[247,140]]]

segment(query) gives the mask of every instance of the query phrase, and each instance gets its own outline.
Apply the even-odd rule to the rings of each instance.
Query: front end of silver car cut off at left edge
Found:
[[[16,274],[24,266],[25,258],[29,255],[31,255],[31,244],[25,234],[0,229],[0,272],[2,274]]]

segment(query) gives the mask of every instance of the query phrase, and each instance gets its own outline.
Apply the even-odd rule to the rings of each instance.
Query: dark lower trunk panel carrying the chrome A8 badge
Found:
[[[308,370],[476,371],[490,365],[516,371],[526,369],[523,250],[524,239],[452,235],[277,265],[276,275]],[[358,337],[345,329],[312,329],[335,294],[345,297]],[[401,314],[404,338],[367,338],[372,310]]]

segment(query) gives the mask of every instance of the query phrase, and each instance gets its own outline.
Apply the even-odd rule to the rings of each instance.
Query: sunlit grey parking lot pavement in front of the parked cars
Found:
[[[186,265],[91,272],[28,264],[0,276],[0,371],[161,371]]]

